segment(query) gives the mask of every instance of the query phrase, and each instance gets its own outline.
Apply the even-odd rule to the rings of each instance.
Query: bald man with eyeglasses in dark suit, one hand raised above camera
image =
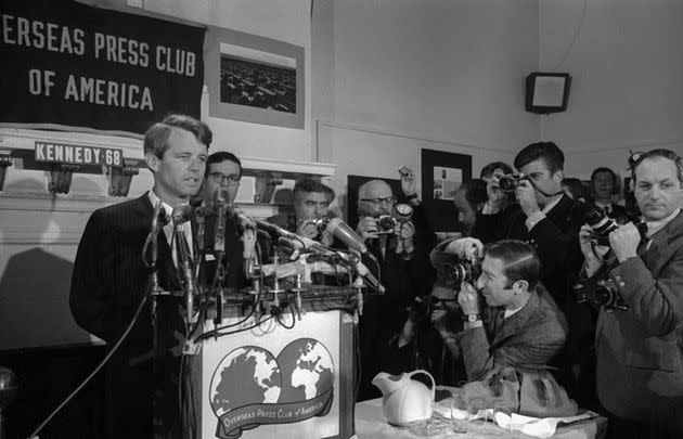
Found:
[[[360,321],[362,375],[359,400],[381,396],[371,384],[378,372],[400,373],[414,366],[399,358],[389,347],[389,341],[400,333],[409,304],[416,296],[429,294],[434,283],[434,269],[428,258],[435,243],[434,232],[417,197],[412,171],[401,173],[401,190],[405,198],[402,202],[414,209],[414,229],[396,228],[391,233],[381,233],[377,227],[377,219],[383,215],[392,215],[397,204],[391,188],[383,180],[371,180],[358,192],[360,220],[357,232],[378,262],[363,255],[363,263],[386,287],[382,296],[366,296]]]

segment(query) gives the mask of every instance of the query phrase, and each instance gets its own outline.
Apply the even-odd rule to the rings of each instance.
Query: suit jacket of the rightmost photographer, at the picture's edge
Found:
[[[600,311],[600,401],[621,419],[669,428],[668,437],[681,438],[683,212],[653,235],[646,251],[617,266],[609,277],[631,309]]]

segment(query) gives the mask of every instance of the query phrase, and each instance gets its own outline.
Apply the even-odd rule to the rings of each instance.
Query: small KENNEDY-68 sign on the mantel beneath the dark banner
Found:
[[[124,151],[111,147],[37,141],[36,162],[123,166]]]

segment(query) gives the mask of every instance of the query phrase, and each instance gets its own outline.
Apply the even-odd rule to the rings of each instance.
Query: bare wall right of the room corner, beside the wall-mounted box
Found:
[[[539,2],[540,67],[553,70],[582,21],[584,2]],[[683,153],[683,2],[589,1],[558,72],[572,75],[566,113],[541,117],[541,138],[567,153],[567,173],[626,168],[629,150]]]

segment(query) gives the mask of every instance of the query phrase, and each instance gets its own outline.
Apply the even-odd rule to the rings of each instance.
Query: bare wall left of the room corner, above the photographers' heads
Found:
[[[523,100],[536,0],[344,0],[332,15],[334,120],[318,127],[318,150],[338,165],[337,192],[347,172],[420,175],[421,147],[473,155],[476,176],[538,138]]]

